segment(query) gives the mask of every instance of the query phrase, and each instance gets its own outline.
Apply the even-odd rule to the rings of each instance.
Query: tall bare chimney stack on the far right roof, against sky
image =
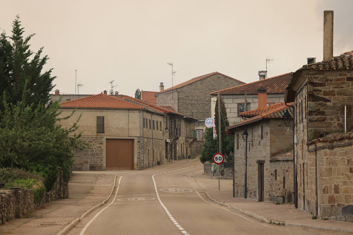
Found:
[[[333,11],[324,11],[324,53],[323,60],[333,57]]]

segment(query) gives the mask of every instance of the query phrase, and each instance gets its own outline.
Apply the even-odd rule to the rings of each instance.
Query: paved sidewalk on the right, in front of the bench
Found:
[[[196,173],[190,177],[210,179],[210,175]],[[308,227],[314,229],[336,230],[353,233],[353,223],[337,220],[312,219],[312,215],[301,210],[295,209],[293,204],[276,205],[273,202],[257,202],[253,199],[233,198],[232,180],[223,180],[225,185],[223,190],[216,191],[205,188],[206,195],[216,203],[228,206],[246,215],[250,215],[259,220],[284,226]],[[218,182],[217,182],[218,183]],[[218,185],[217,185],[218,186]]]

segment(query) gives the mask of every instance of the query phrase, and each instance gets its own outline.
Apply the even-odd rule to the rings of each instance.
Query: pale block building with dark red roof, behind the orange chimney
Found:
[[[229,124],[241,122],[242,119],[239,113],[257,109],[257,89],[259,87],[264,87],[267,90],[267,105],[283,102],[285,90],[292,79],[292,74],[293,73],[286,73],[267,79],[263,79],[263,77],[260,76],[260,80],[258,81],[220,90],[220,95],[222,95],[226,105]],[[246,109],[244,109],[245,92],[247,101]],[[217,97],[217,93],[218,91],[213,91],[210,95]],[[216,100],[214,99],[211,105],[212,116],[215,112],[215,103]]]

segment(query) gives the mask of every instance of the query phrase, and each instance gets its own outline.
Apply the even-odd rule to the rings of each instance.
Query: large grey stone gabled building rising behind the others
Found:
[[[173,106],[175,111],[198,120],[196,123],[196,154],[201,154],[205,120],[211,117],[211,98],[209,93],[244,82],[224,74],[214,72],[199,76],[164,90],[163,84],[156,97],[159,106]]]

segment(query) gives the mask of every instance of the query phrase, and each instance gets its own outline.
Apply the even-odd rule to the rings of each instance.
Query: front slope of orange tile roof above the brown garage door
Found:
[[[96,108],[96,109],[145,109],[145,107],[132,104],[105,94],[91,95],[60,104],[63,108]]]

